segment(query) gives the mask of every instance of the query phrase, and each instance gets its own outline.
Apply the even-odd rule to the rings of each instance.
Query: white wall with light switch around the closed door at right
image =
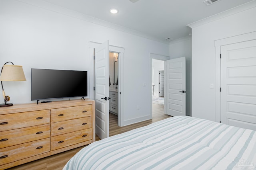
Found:
[[[256,1],[192,23],[192,116],[215,121],[214,41],[256,31]],[[216,19],[216,18],[219,19]],[[201,23],[204,22],[204,23]],[[219,100],[220,101],[220,100]],[[219,102],[218,101],[218,102]]]

